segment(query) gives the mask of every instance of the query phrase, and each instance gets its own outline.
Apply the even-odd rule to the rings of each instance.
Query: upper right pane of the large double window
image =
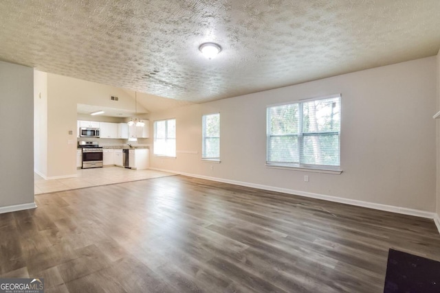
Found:
[[[303,133],[339,132],[340,98],[303,103]]]

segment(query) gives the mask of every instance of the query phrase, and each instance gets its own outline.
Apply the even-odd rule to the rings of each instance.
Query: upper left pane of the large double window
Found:
[[[270,134],[298,134],[298,104],[271,107],[268,116]]]

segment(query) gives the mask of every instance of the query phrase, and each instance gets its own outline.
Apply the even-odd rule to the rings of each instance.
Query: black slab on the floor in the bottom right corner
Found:
[[[439,293],[440,261],[390,248],[384,293]]]

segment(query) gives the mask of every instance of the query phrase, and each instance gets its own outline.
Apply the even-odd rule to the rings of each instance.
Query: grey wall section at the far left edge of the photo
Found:
[[[0,62],[0,212],[34,207],[34,69]]]

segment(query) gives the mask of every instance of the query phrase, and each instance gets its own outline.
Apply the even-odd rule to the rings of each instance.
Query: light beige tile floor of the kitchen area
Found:
[[[34,194],[47,194],[50,192],[175,175],[150,169],[132,170],[121,167],[78,169],[77,174],[78,176],[74,178],[50,180],[45,180],[38,174],[34,174]]]

